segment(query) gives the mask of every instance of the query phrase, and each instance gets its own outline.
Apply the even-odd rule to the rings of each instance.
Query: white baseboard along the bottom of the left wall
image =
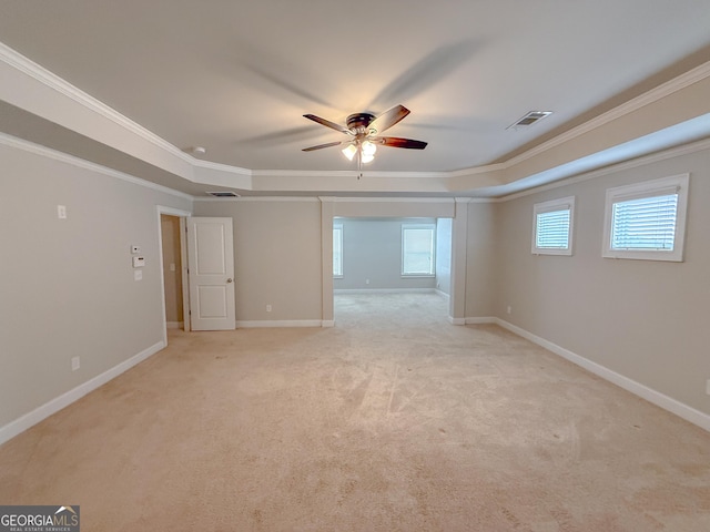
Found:
[[[19,433],[24,432],[30,427],[33,427],[40,421],[49,418],[51,415],[59,412],[61,409],[68,407],[72,402],[78,401],[79,399],[84,397],[87,393],[105,385],[111,379],[114,379],[122,372],[131,369],[136,364],[142,362],[148,357],[156,354],[164,347],[165,347],[165,344],[163,341],[159,341],[158,344],[149,347],[148,349],[142,350],[138,355],[132,356],[128,360],[124,360],[118,366],[114,366],[108,371],[104,371],[103,374],[98,375],[97,377],[89,379],[88,381],[79,385],[77,388],[73,388],[67,391],[65,393],[62,393],[61,396],[55,397],[51,401],[45,402],[41,407],[36,408],[31,412],[26,413],[24,416],[16,419],[14,421],[10,421],[4,427],[0,428],[0,444],[4,443],[11,438],[14,438]]]

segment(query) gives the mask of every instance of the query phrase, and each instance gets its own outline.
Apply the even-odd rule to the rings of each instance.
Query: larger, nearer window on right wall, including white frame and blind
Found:
[[[602,256],[681,262],[688,182],[683,174],[609,188]]]

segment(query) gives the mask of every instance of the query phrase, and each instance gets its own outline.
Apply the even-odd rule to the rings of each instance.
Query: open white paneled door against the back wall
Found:
[[[187,218],[190,323],[193,330],[231,330],[234,313],[232,218]]]

